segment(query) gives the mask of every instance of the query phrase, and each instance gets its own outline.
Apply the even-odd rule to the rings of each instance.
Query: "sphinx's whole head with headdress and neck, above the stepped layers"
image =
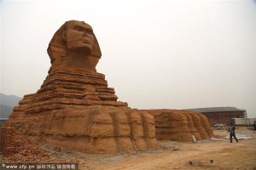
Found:
[[[102,56],[91,26],[77,20],[65,22],[55,32],[47,51],[51,69],[61,66],[96,71],[96,64]]]

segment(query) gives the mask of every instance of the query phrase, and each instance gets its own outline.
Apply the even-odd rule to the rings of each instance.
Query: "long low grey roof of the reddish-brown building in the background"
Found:
[[[206,108],[194,108],[194,109],[185,109],[187,111],[197,111],[200,113],[208,112],[222,112],[222,111],[246,111],[237,109],[236,107],[206,107]]]

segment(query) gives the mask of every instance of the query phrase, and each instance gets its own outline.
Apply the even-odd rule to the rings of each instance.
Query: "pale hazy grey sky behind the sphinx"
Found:
[[[234,106],[256,117],[255,1],[0,1],[1,93],[36,93],[67,20],[93,27],[119,100],[137,109]]]

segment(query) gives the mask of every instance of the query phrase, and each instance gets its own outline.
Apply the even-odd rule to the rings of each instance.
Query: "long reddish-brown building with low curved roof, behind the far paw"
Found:
[[[207,116],[211,126],[215,124],[229,125],[232,118],[247,118],[247,111],[236,107],[207,107],[186,110],[197,111]]]

